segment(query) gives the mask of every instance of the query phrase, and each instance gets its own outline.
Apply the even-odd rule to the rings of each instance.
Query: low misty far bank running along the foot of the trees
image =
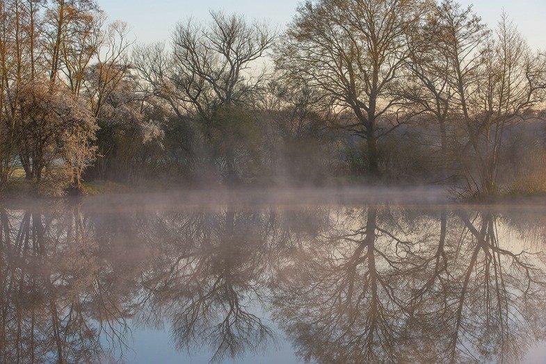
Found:
[[[333,182],[333,183],[332,183]],[[344,179],[330,181],[322,186],[275,186],[275,185],[176,185],[175,183],[155,183],[147,181],[131,185],[113,181],[84,182],[81,190],[64,190],[58,195],[40,194],[35,183],[25,179],[10,181],[0,192],[0,199],[21,201],[47,201],[64,198],[105,197],[116,199],[140,200],[141,202],[170,196],[175,201],[200,204],[200,201],[218,201],[218,203],[255,204],[306,204],[313,201],[319,204],[376,204],[378,201],[390,201],[390,204],[460,204],[460,205],[497,205],[525,204],[546,205],[546,191],[531,192],[507,191],[488,199],[463,199],[453,193],[453,188],[446,185],[387,184],[381,181],[366,183],[364,180]],[[124,201],[120,201],[124,203]]]

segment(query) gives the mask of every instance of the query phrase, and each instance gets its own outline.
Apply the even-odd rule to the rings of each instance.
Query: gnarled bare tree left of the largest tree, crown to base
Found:
[[[255,154],[255,146],[247,143],[257,140],[255,122],[246,109],[264,85],[265,71],[258,66],[275,32],[239,15],[211,12],[211,17],[205,26],[194,19],[179,23],[172,55],[156,45],[136,51],[134,62],[152,83],[151,93],[165,99],[179,119],[198,126],[212,159],[228,181],[235,181],[236,159]]]

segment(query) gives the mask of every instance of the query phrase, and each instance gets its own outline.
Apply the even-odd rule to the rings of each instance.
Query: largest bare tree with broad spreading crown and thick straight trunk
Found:
[[[419,0],[307,1],[280,45],[280,69],[328,92],[334,108],[352,111],[355,122],[342,127],[367,140],[372,174],[379,173],[378,138],[407,111],[400,92],[407,40],[426,8]]]

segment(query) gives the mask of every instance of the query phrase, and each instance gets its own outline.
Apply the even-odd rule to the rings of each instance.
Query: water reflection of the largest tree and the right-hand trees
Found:
[[[275,314],[305,359],[514,363],[543,340],[542,254],[503,247],[490,211],[412,215],[351,211],[284,267]]]

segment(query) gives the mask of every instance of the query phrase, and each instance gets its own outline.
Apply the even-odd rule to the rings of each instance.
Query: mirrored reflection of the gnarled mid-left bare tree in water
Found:
[[[272,332],[252,306],[264,296],[266,216],[227,210],[179,217],[156,220],[166,244],[159,264],[143,274],[140,319],[170,321],[177,347],[204,343],[213,359],[262,349]]]

